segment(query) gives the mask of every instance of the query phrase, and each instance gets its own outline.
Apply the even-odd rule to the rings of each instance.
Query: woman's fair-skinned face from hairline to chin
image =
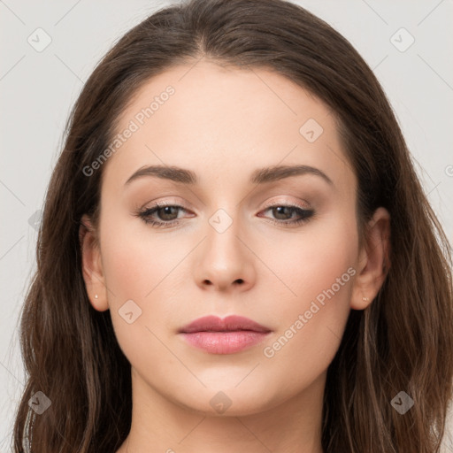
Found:
[[[379,289],[362,279],[357,180],[332,112],[277,73],[202,61],[150,80],[117,133],[87,170],[104,175],[84,264],[135,391],[230,415],[319,396],[349,310]],[[312,169],[278,169],[297,165]],[[180,333],[208,315],[267,333]]]

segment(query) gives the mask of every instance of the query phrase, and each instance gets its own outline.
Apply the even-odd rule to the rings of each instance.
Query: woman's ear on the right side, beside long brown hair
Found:
[[[359,250],[357,277],[350,307],[365,310],[377,296],[387,277],[390,253],[390,214],[380,207],[368,223],[364,246]],[[367,297],[368,300],[364,300]]]

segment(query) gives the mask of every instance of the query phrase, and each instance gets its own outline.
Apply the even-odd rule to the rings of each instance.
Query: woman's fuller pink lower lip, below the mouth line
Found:
[[[185,334],[186,342],[211,354],[234,354],[265,340],[269,333],[240,330],[234,332],[194,332]]]

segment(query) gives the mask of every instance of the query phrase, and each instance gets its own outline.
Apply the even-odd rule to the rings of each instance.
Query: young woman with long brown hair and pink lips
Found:
[[[88,79],[21,319],[16,452],[434,453],[451,250],[388,100],[281,0],[192,0]]]

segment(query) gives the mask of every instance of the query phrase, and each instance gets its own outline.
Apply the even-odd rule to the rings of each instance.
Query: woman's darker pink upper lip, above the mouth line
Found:
[[[194,332],[234,332],[238,330],[251,330],[254,332],[271,332],[271,329],[261,326],[257,322],[243,316],[231,315],[225,319],[217,316],[204,316],[192,321],[180,329],[180,333],[192,334]]]

